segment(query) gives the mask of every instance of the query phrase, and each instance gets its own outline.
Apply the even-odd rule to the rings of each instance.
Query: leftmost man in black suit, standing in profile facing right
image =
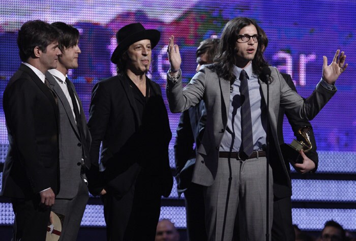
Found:
[[[2,195],[11,198],[15,213],[13,240],[45,240],[60,191],[58,107],[44,75],[57,67],[57,39],[50,24],[25,22],[17,38],[22,64],[4,91],[9,150]]]

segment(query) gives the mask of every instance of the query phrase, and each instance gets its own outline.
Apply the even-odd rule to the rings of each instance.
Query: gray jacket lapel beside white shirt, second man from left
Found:
[[[63,107],[64,107],[64,109],[66,111],[67,116],[68,116],[69,122],[71,123],[72,128],[75,131],[75,134],[79,137],[78,128],[77,128],[77,125],[75,123],[75,119],[74,119],[74,116],[73,116],[72,108],[71,108],[71,106],[70,106],[70,104],[68,102],[67,97],[63,93],[61,86],[55,80],[56,77],[51,75],[49,72],[46,72],[46,77],[48,79],[49,86],[53,89],[53,92],[57,95],[58,99],[63,104]]]

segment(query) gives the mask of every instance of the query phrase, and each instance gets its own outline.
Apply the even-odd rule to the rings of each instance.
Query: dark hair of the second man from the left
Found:
[[[71,48],[78,44],[78,29],[64,22],[53,22],[51,25],[56,27],[58,32],[60,32],[60,38],[58,38],[58,48],[60,48],[62,52],[66,48]]]

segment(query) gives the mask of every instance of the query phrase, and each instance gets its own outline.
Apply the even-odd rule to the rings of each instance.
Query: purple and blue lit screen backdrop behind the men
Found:
[[[184,82],[188,83],[195,73],[195,51],[199,42],[212,36],[219,37],[225,23],[238,16],[257,20],[269,38],[266,59],[281,72],[292,76],[303,97],[313,92],[321,78],[322,56],[327,56],[330,63],[337,49],[345,51],[349,67],[337,81],[338,92],[311,123],[320,154],[319,171],[356,173],[356,2],[353,0],[2,0],[0,91],[4,92],[9,78],[20,65],[16,38],[21,24],[34,19],[49,23],[64,21],[80,31],[79,68],[68,75],[75,84],[88,117],[94,84],[115,75],[110,56],[116,46],[116,31],[126,24],[141,22],[145,28],[155,28],[161,32],[161,40],[153,49],[150,77],[161,85],[167,104],[164,88],[166,71],[169,69],[166,54],[169,36],[174,35],[176,44],[180,46]],[[2,100],[0,102],[2,104]],[[173,167],[172,147],[179,114],[172,114],[169,110],[168,113],[173,134],[170,144]],[[293,133],[287,122],[284,124],[284,135],[286,142],[290,143]],[[5,117],[1,109],[0,162],[4,162],[7,145]],[[355,203],[356,184],[349,177],[346,180],[342,177],[338,177],[338,180],[293,180],[293,201]],[[176,197],[173,190],[170,198]],[[7,214],[4,211],[3,221],[0,219],[0,222],[9,224],[12,222],[11,205],[2,205]],[[100,205],[88,205],[82,225],[104,225],[101,208]],[[301,228],[313,230],[320,229],[326,219],[334,218],[346,228],[356,229],[354,213],[355,209],[340,205],[337,209],[317,206],[294,208],[293,221]],[[96,214],[101,215],[99,221],[95,221]],[[177,226],[185,227],[185,213],[181,206],[162,207],[161,217],[171,218]]]

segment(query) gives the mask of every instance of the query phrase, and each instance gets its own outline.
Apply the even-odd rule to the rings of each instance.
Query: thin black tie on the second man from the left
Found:
[[[80,134],[80,140],[81,140],[83,156],[84,156],[83,159],[84,159],[84,162],[85,162],[85,166],[89,169],[90,166],[91,166],[91,163],[90,163],[90,161],[87,160],[87,158],[85,158],[85,157],[88,156],[88,146],[86,145],[84,129],[83,129],[83,126],[82,126],[82,123],[81,123],[81,116],[80,116],[80,112],[79,112],[79,109],[78,109],[77,101],[76,101],[76,98],[75,98],[75,95],[74,95],[74,92],[73,92],[73,89],[72,89],[72,85],[71,85],[72,83],[67,77],[66,77],[66,84],[67,84],[69,96],[72,99],[73,110],[74,110],[74,114],[75,114],[75,120],[77,122],[77,128],[78,128],[79,134]]]

